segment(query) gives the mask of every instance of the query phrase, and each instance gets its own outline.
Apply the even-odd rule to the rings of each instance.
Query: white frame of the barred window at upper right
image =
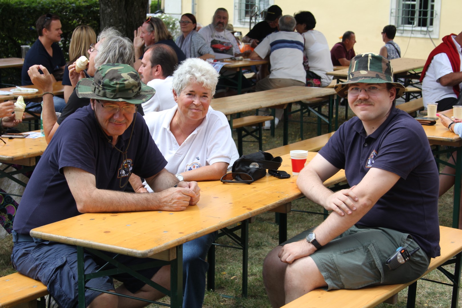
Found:
[[[427,27],[419,27],[416,25],[402,25],[400,24],[399,15],[399,6],[402,2],[416,2],[422,0],[390,0],[390,24],[396,26],[396,36],[413,36],[413,37],[431,37],[439,38],[439,24],[440,24],[440,12],[441,12],[441,2],[442,0],[434,0],[434,15],[433,15],[433,25]],[[428,0],[431,1],[431,0]],[[416,10],[417,12],[417,10]],[[415,21],[415,24],[417,21]]]

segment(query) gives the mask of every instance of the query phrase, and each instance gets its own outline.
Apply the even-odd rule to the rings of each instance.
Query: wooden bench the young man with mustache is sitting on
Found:
[[[430,261],[430,266],[423,276],[432,272],[438,266],[452,264],[456,262],[456,272],[452,275],[455,277],[455,284],[450,284],[452,290],[452,306],[456,307],[459,300],[459,283],[460,283],[460,263],[462,251],[462,230],[440,226],[441,255]],[[457,255],[457,256],[456,256]],[[453,256],[456,259],[450,260]],[[457,272],[458,271],[458,272]],[[407,307],[414,307],[415,292],[417,290],[417,281],[414,280],[406,284],[390,284],[373,287],[364,287],[358,290],[330,290],[325,291],[316,289],[298,299],[286,304],[283,308],[325,308],[325,307],[376,307],[381,302],[389,299],[407,286]],[[433,281],[439,283],[437,281]]]

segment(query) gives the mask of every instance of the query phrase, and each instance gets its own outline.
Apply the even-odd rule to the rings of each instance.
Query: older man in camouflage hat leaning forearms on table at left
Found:
[[[24,191],[12,232],[13,266],[42,281],[59,307],[68,308],[78,301],[76,247],[32,238],[30,229],[86,212],[182,211],[200,196],[196,182],[179,182],[164,169],[167,162],[136,112],[154,90],[133,67],[100,66],[94,78],[79,81],[76,91],[90,98],[90,105],[69,115],[49,143]],[[132,173],[145,178],[155,193],[123,192]],[[117,260],[128,266],[146,262],[122,255]],[[104,263],[85,252],[85,272]],[[139,274],[169,288],[169,267]],[[116,289],[112,278],[122,285]],[[123,273],[93,278],[86,286],[150,300],[163,296]],[[94,290],[85,290],[85,302],[88,307],[141,307],[139,301]]]

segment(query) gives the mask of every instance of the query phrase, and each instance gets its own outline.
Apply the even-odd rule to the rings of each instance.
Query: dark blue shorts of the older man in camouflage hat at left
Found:
[[[65,308],[75,307],[78,302],[77,284],[77,248],[72,245],[50,242],[46,240],[33,239],[29,236],[20,235],[16,232],[13,235],[13,252],[11,260],[13,267],[20,273],[31,278],[40,280],[47,286],[51,296],[55,298],[60,306]],[[27,241],[27,238],[32,241]],[[22,242],[24,241],[24,242]],[[115,254],[106,253],[111,257]],[[152,262],[151,258],[135,258],[126,255],[119,255],[117,259],[124,265],[133,266]],[[96,272],[106,262],[93,254],[85,251],[85,273]],[[114,266],[106,266],[106,269]],[[160,267],[139,271],[138,273],[151,279]],[[132,293],[140,290],[145,283],[134,278],[130,274],[122,273],[114,276],[90,279],[85,286],[101,289],[115,290],[112,278],[122,282]],[[101,292],[85,290],[85,304],[90,304]]]

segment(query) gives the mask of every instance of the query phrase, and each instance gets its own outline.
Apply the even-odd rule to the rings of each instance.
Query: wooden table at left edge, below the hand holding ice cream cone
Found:
[[[33,131],[40,132],[40,131]],[[27,133],[33,133],[27,132]],[[19,181],[13,175],[32,171],[36,163],[47,148],[45,137],[39,138],[2,138],[6,144],[0,141],[0,163],[17,164],[27,166],[20,170],[5,172],[0,169],[0,178],[7,177],[16,183],[26,186],[26,183]]]

